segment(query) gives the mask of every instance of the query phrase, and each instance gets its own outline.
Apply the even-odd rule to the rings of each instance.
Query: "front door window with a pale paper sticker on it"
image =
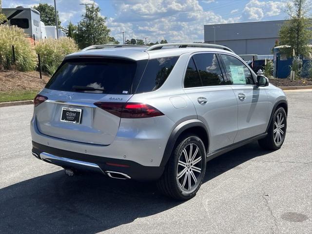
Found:
[[[254,84],[251,71],[239,59],[229,55],[220,55],[224,62],[227,78],[233,84]]]

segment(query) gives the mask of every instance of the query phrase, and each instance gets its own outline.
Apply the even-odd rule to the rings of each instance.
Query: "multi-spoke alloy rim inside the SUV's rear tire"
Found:
[[[176,179],[184,191],[192,190],[202,173],[202,159],[199,147],[190,143],[186,145],[179,155]]]

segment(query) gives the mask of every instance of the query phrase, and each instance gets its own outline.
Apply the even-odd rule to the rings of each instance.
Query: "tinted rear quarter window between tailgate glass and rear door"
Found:
[[[178,57],[150,59],[136,93],[155,91],[166,81]]]

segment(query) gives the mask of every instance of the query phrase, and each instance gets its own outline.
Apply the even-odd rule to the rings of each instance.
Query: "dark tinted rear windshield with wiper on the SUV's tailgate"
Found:
[[[134,77],[141,78],[146,63],[147,60],[140,62],[123,59],[67,60],[45,87],[69,92],[130,94]],[[77,86],[80,89],[77,89]],[[83,87],[98,90],[83,90]]]

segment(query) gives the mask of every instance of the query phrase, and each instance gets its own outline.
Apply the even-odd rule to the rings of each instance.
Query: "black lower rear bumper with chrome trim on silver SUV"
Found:
[[[91,170],[107,175],[107,171],[123,173],[132,179],[139,181],[148,181],[158,179],[163,171],[163,167],[143,166],[134,161],[114,159],[103,156],[93,156],[61,150],[50,146],[33,143],[33,154],[39,159],[65,168],[74,168],[82,170]],[[118,164],[119,166],[108,165]],[[123,165],[123,166],[120,166]]]

